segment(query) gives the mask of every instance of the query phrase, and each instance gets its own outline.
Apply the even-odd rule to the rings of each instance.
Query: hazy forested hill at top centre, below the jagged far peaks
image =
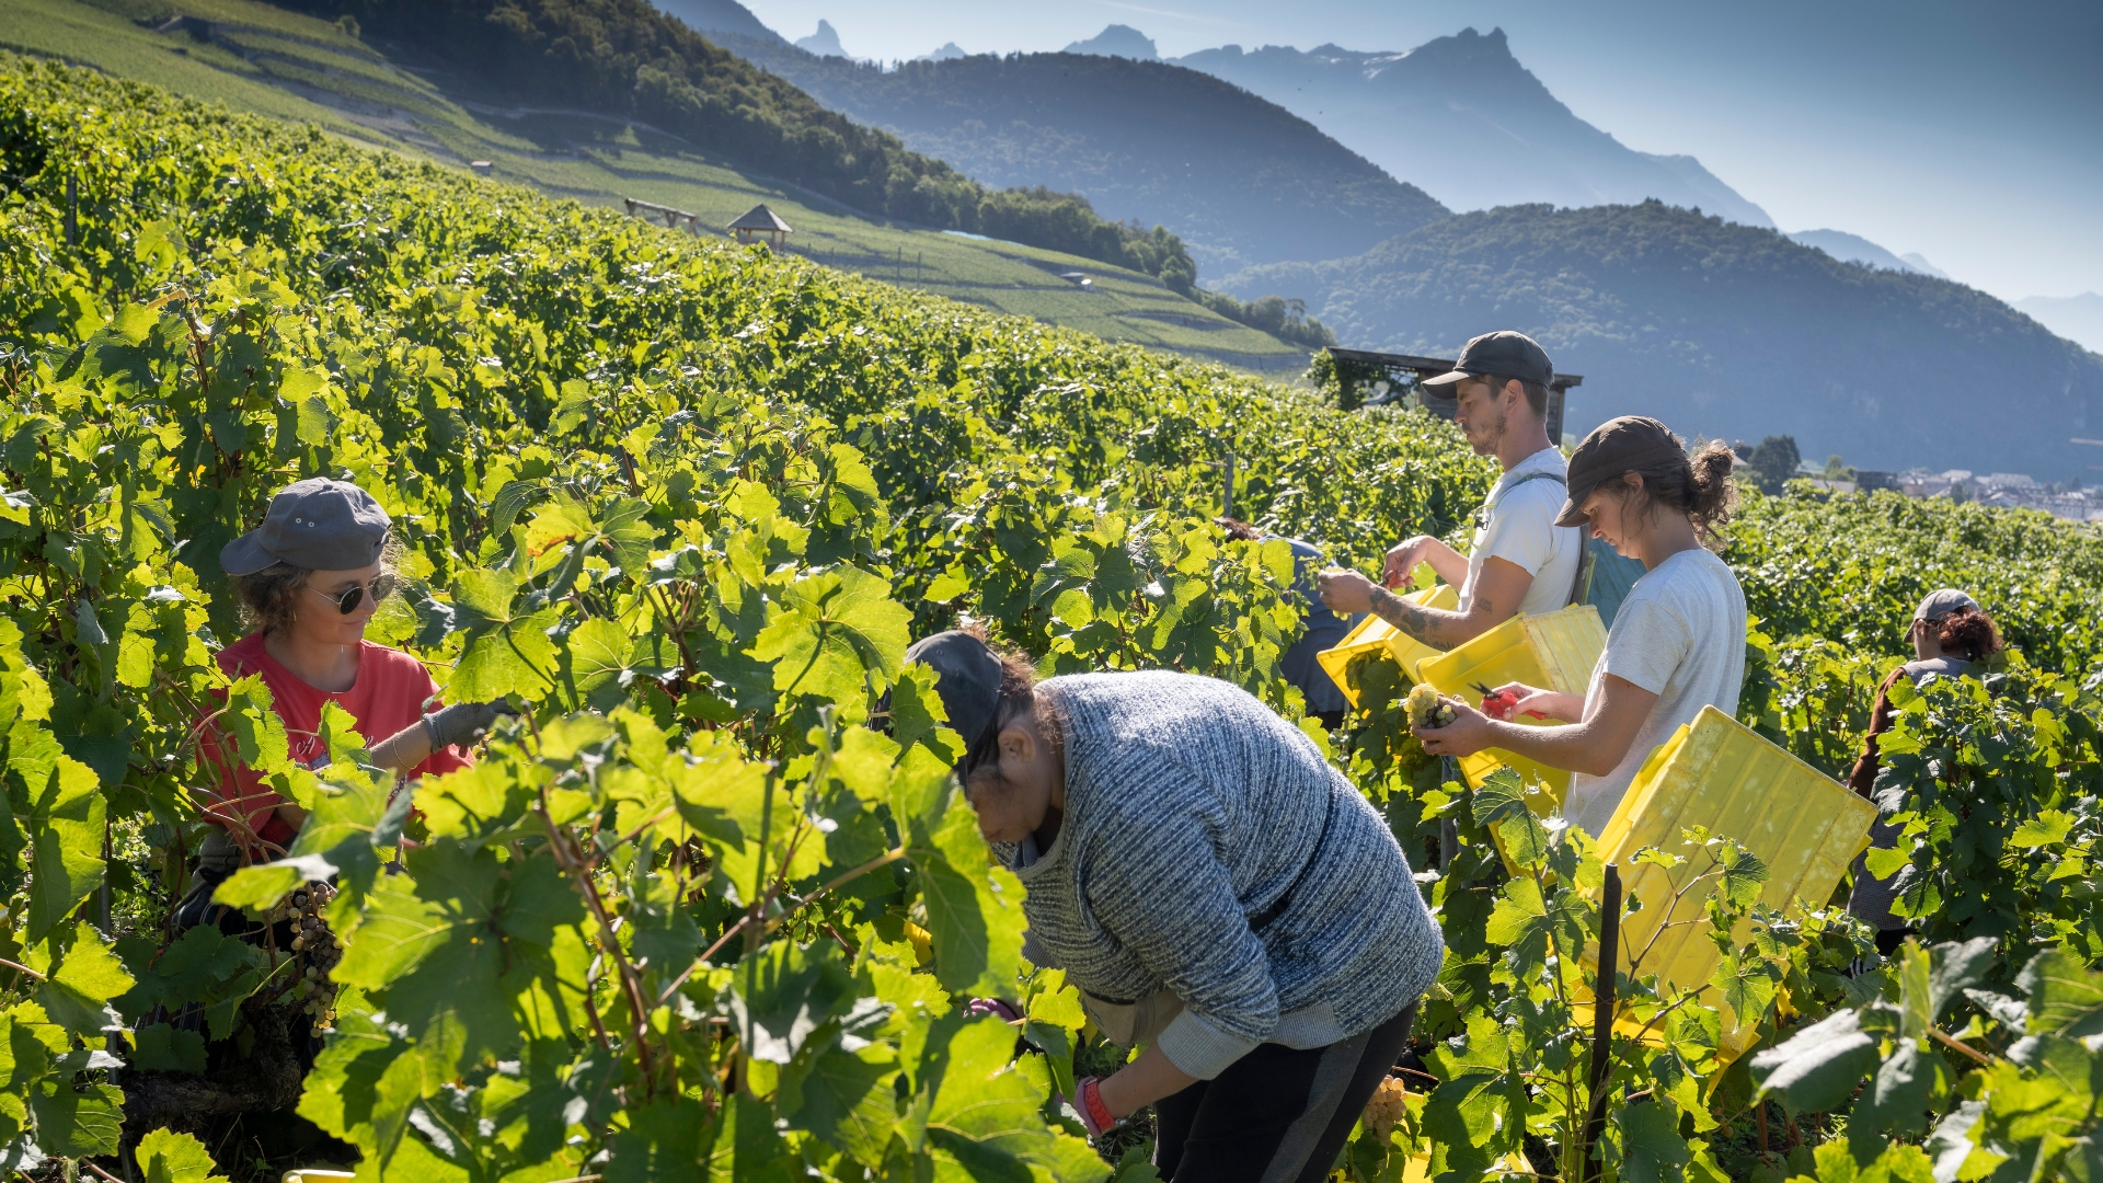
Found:
[[[1159,61],[1030,53],[885,69],[723,44],[988,185],[1070,189],[1104,217],[1165,223],[1207,276],[1356,255],[1447,213],[1300,116]]]

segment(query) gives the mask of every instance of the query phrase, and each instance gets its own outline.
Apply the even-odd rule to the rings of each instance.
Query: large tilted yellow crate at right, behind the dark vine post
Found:
[[[1802,899],[1823,907],[1855,855],[1870,846],[1872,821],[1874,804],[1735,718],[1701,707],[1695,722],[1651,751],[1598,836],[1600,861],[1621,865],[1624,897],[1642,901],[1640,911],[1621,918],[1621,973],[1645,947],[1636,973],[1655,973],[1661,983],[1695,989],[1716,973],[1718,954],[1703,909],[1708,893],[1695,888],[1670,911],[1666,907],[1672,893],[1708,865],[1682,846],[1682,829],[1699,825],[1733,838],[1767,863],[1760,903],[1785,907]],[[1689,859],[1678,867],[1638,865],[1634,855],[1645,846]],[[1668,920],[1682,924],[1657,935]],[[1750,933],[1739,933],[1741,943],[1748,939]],[[1588,949],[1586,962],[1596,964],[1596,956],[1598,949]],[[1733,1019],[1724,1008],[1724,1023]],[[1752,1044],[1752,1029],[1733,1025],[1722,1044],[1724,1061],[1737,1059]]]

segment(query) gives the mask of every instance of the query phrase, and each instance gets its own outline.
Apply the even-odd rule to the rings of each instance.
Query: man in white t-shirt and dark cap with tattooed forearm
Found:
[[[1474,545],[1462,558],[1430,535],[1388,552],[1386,587],[1356,570],[1321,577],[1321,598],[1338,613],[1377,613],[1396,629],[1453,648],[1514,613],[1537,617],[1571,602],[1584,533],[1556,526],[1563,509],[1563,453],[1548,442],[1548,352],[1525,333],[1487,333],[1468,341],[1453,373],[1426,379],[1426,398],[1455,398],[1453,421],[1478,457],[1497,457],[1504,476],[1491,486],[1476,520]],[[1398,587],[1420,564],[1459,587],[1459,610],[1422,608]]]

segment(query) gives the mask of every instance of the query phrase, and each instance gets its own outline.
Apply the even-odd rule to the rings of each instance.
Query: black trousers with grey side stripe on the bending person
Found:
[[[1155,1170],[1169,1183],[1321,1183],[1415,1017],[1411,1002],[1325,1048],[1260,1044],[1218,1078],[1155,1101]]]

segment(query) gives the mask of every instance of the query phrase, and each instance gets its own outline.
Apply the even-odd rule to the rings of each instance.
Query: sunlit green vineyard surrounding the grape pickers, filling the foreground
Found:
[[[1211,524],[1220,461],[1237,512],[1377,570],[1470,526],[1493,474],[1451,425],[17,57],[0,173],[8,1170],[204,1179],[248,1143],[175,1099],[246,1097],[381,1179],[1150,1177],[1144,1122],[1089,1145],[1056,1101],[1125,1052],[1022,958],[1022,884],[906,640],[972,617],[1045,671],[1209,674],[1300,722],[1291,554]],[[406,547],[368,636],[522,711],[412,796],[341,711],[294,766],[261,682],[212,663],[242,631],[221,545],[318,474]],[[1386,815],[1447,962],[1346,1177],[2086,1177],[2103,539],[1745,499],[1741,718],[1811,764],[1853,760],[1924,589],[1975,589],[2021,650],[1884,735],[1918,941],[1886,960],[1832,901],[1760,905],[1731,836],[1647,850],[1703,871],[1720,968],[1682,994],[1624,964],[1594,1082],[1596,848],[1516,781],[1443,781],[1409,686],[1363,686],[1342,730],[1302,726]],[[215,695],[309,810],[217,899],[307,951],[170,933]],[[1727,1069],[1739,1023],[1760,1050]]]

